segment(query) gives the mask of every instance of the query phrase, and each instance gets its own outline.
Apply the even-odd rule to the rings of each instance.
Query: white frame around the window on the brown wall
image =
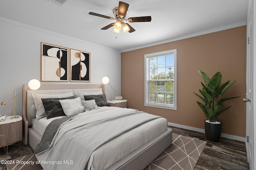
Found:
[[[148,58],[152,57],[160,57],[164,55],[169,55],[173,54],[174,55],[174,105],[166,105],[166,104],[153,104],[153,103],[148,103],[148,86],[147,86],[147,71],[149,69],[149,63],[147,62]],[[164,79],[165,80],[165,79]],[[177,110],[177,49],[172,49],[168,51],[160,51],[157,53],[150,53],[144,55],[144,106],[148,107],[157,107],[157,108],[163,108],[163,109],[172,109],[172,110]]]

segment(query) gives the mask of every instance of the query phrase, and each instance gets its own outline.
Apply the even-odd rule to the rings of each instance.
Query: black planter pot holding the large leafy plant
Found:
[[[221,135],[221,123],[208,123],[204,121],[204,130],[208,141],[218,142]]]

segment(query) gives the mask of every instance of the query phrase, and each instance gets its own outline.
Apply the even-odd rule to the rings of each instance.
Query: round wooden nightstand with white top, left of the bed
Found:
[[[22,117],[11,119],[7,116],[5,121],[0,122],[0,147],[8,154],[8,145],[12,145],[22,139]]]

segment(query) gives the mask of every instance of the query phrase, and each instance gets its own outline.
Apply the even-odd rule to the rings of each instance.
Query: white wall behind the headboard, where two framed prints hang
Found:
[[[50,26],[50,25],[49,25]],[[86,33],[86,32],[85,32]],[[97,35],[95,35],[97,36]],[[120,52],[101,45],[68,37],[59,33],[0,18],[0,102],[6,102],[22,91],[22,85],[31,79],[40,80],[40,43],[50,43],[91,53],[91,82],[102,84],[108,76],[110,84],[120,96],[121,80]],[[41,84],[82,84],[78,82],[41,82]],[[106,96],[110,99],[110,86],[106,85]],[[14,114],[14,100],[0,106],[0,115]],[[22,95],[16,98],[16,115],[22,115]]]

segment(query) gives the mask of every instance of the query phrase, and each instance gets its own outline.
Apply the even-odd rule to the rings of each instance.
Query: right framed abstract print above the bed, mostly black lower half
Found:
[[[70,49],[70,82],[90,82],[90,53]]]

